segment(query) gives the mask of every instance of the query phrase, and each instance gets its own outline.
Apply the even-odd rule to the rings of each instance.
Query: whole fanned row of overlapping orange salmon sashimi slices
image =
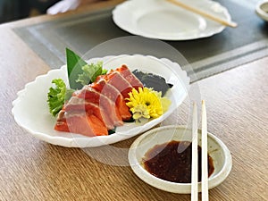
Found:
[[[132,88],[139,87],[143,88],[143,84],[126,65],[98,76],[94,83],[75,91],[63,105],[54,130],[88,137],[108,135],[108,130],[130,120],[125,98]]]

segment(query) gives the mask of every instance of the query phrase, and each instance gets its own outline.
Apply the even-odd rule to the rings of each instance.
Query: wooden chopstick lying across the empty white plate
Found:
[[[212,14],[209,14],[209,13],[205,13],[204,11],[201,11],[201,10],[198,10],[197,8],[194,8],[194,7],[191,7],[189,6],[188,4],[183,4],[177,0],[166,0],[172,4],[176,4],[176,5],[179,5],[180,7],[190,11],[190,12],[193,12],[193,13],[197,13],[197,14],[200,14],[202,16],[204,16],[205,18],[208,18],[212,21],[217,21],[219,23],[222,23],[224,26],[229,26],[229,27],[232,27],[232,28],[236,28],[238,26],[238,24],[234,21],[224,21],[222,20],[221,18],[218,18]]]

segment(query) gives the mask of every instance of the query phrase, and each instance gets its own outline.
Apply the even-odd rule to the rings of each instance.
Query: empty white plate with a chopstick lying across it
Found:
[[[230,21],[227,9],[219,3],[209,0],[180,1]],[[207,38],[225,28],[218,22],[207,20],[164,0],[126,1],[113,10],[113,21],[131,34],[164,40]]]

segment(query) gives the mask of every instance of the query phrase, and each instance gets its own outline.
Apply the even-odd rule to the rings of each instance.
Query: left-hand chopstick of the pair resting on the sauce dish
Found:
[[[197,139],[197,104],[194,103],[192,121],[191,201],[198,201]]]

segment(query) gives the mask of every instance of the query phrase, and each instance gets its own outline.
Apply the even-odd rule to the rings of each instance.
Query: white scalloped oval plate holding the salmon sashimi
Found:
[[[59,132],[54,130],[55,118],[49,113],[46,103],[48,89],[51,81],[62,78],[68,83],[66,66],[61,69],[48,71],[46,75],[38,76],[18,92],[18,97],[13,101],[13,116],[15,121],[28,130],[34,137],[48,143],[63,147],[97,147],[112,144],[123,139],[131,138],[141,132],[151,129],[156,124],[167,118],[188,95],[189,79],[185,71],[180,69],[178,63],[172,63],[168,59],[157,59],[145,55],[119,55],[95,58],[88,63],[103,61],[105,69],[115,69],[125,63],[130,70],[138,69],[145,72],[153,72],[161,75],[173,87],[166,96],[172,101],[172,105],[166,113],[157,119],[145,124],[124,123],[117,127],[116,132],[109,136],[85,137],[79,134]]]

